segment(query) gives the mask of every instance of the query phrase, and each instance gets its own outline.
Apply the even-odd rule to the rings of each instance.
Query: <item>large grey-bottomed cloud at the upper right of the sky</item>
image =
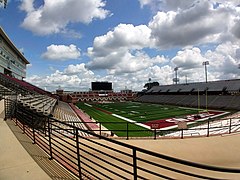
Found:
[[[200,1],[186,10],[158,12],[149,27],[159,48],[217,43],[222,34],[229,33],[232,11],[227,7],[214,9],[210,2]]]

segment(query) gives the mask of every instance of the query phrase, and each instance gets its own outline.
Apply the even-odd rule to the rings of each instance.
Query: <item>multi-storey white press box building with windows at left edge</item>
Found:
[[[26,77],[27,64],[28,60],[0,27],[0,73],[23,79]]]

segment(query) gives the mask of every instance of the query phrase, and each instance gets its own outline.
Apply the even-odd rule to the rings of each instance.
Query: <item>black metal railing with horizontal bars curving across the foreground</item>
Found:
[[[158,154],[54,118],[47,119],[45,131],[35,128],[34,121],[34,117],[27,123],[21,116],[15,119],[50,159],[58,161],[79,179],[231,179],[236,174],[240,177],[240,169]]]

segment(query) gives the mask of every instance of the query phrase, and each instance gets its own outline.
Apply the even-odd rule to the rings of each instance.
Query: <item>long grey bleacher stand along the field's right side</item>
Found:
[[[135,99],[187,107],[240,110],[240,80],[154,86]]]

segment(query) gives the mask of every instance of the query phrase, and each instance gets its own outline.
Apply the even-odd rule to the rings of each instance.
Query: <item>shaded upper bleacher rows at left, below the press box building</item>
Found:
[[[5,93],[5,99],[9,99],[10,97],[6,94],[6,92],[15,94],[15,98],[12,98],[11,102],[9,100],[9,103],[16,101],[19,106],[28,110],[29,113],[32,113],[33,115],[38,114],[39,117],[43,116],[43,121],[45,121],[44,116],[46,117],[52,114],[58,101],[56,96],[52,95],[50,92],[42,90],[41,88],[38,88],[26,81],[19,80],[2,73],[0,73],[0,84],[3,87],[1,89],[3,94]],[[14,104],[12,104],[11,107],[13,105]],[[17,109],[17,111],[20,110]]]

